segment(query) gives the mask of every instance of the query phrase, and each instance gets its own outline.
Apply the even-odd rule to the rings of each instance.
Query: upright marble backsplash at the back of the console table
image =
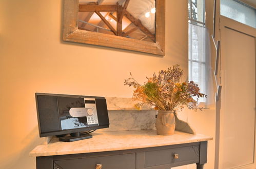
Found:
[[[132,98],[106,97],[109,113],[109,128],[103,131],[123,130],[155,130],[156,111],[149,104],[145,104],[142,110],[136,110],[134,105],[138,101]],[[189,123],[179,119],[175,115],[175,130],[195,134]]]

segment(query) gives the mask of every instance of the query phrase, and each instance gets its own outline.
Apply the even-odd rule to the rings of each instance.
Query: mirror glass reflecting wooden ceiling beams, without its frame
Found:
[[[79,0],[78,29],[155,42],[155,0]]]

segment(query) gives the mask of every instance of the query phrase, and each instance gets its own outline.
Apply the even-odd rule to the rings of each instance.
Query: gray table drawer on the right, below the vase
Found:
[[[145,167],[164,164],[190,164],[199,162],[199,145],[145,152]],[[178,155],[179,158],[174,158]],[[176,156],[177,157],[177,156]]]

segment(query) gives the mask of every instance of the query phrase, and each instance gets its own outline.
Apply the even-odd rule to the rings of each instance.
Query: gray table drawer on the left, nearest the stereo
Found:
[[[54,161],[54,169],[95,169],[102,164],[102,169],[135,169],[135,153],[111,156],[88,157]]]

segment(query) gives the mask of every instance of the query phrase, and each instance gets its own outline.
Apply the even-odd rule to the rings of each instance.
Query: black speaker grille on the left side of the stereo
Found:
[[[37,96],[41,133],[61,131],[56,96]]]

